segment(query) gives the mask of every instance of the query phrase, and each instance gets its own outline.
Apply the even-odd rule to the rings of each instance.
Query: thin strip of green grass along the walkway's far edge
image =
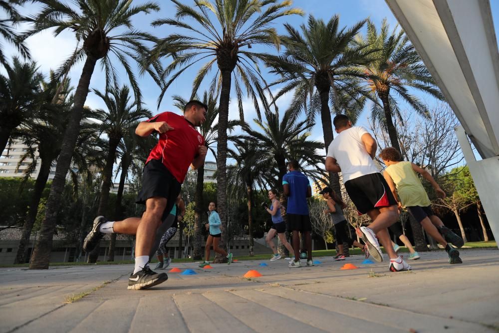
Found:
[[[464,248],[468,249],[485,249],[485,248],[497,248],[497,243],[495,241],[490,241],[490,242],[468,242],[465,243]],[[363,254],[362,250],[355,248],[354,250],[350,249],[350,254],[351,255],[361,255]],[[401,246],[399,252],[409,252],[406,247]],[[335,256],[336,255],[336,250],[317,250],[312,252],[314,257],[327,257],[327,256]],[[238,256],[234,257],[234,259],[237,259],[238,261],[247,261],[247,260],[266,260],[270,259],[270,256],[272,254],[264,254],[264,255],[255,255],[255,256]],[[213,259],[213,257],[212,257]],[[172,259],[172,263],[192,263],[192,259]],[[96,264],[87,264],[84,262],[77,262],[77,263],[50,263],[50,267],[56,267],[56,266],[88,266],[88,265],[124,265],[124,264],[133,264],[133,260],[118,260],[118,261],[113,261],[113,262],[107,262],[107,261],[98,261]],[[154,259],[152,263],[157,263],[157,260]],[[0,265],[0,268],[4,267],[29,267],[29,264],[2,264]]]

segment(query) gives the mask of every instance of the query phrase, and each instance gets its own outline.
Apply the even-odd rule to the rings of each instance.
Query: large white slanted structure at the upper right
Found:
[[[490,2],[386,2],[462,124],[456,135],[499,240],[499,52]]]

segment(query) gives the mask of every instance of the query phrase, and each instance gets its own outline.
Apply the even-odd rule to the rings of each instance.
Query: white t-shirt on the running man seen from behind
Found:
[[[329,145],[327,157],[334,158],[340,166],[343,183],[379,172],[362,142],[366,133],[365,128],[353,126],[339,133]]]

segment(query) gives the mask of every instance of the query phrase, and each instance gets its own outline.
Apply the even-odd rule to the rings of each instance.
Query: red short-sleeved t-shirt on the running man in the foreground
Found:
[[[205,144],[205,138],[184,116],[173,112],[163,112],[148,120],[156,121],[165,121],[174,129],[160,134],[158,144],[151,150],[146,163],[160,160],[182,184],[189,166],[198,155],[198,147]]]

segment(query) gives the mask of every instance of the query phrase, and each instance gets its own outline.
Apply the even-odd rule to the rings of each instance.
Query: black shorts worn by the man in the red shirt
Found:
[[[167,199],[162,219],[170,214],[180,193],[182,184],[168,171],[160,160],[150,160],[142,170],[142,188],[135,202],[145,205],[146,200],[152,197]]]

